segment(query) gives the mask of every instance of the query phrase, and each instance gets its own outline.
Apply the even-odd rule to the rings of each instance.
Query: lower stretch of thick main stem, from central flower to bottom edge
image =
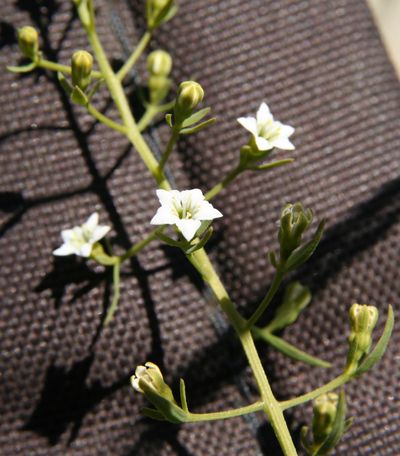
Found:
[[[262,403],[264,404],[263,410],[271,421],[271,425],[285,456],[297,455],[296,448],[293,444],[292,437],[290,436],[289,429],[283,416],[283,410],[273,395],[268,378],[257,353],[257,349],[254,345],[251,330],[247,327],[245,320],[238,313],[233,302],[229,298],[227,291],[221,283],[204,249],[197,250],[196,252],[188,255],[188,258],[193,266],[202,275],[203,279],[209,284],[215,297],[220,303],[222,310],[227,315],[229,322],[232,324],[242,343],[260,390]]]

